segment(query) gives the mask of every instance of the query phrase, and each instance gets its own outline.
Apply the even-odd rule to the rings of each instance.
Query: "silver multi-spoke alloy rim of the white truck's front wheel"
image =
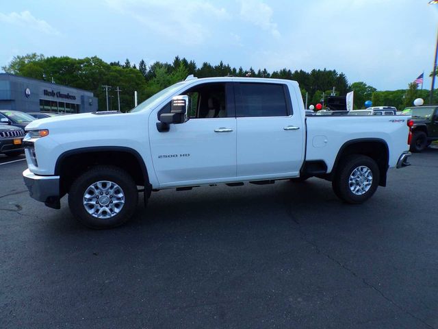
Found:
[[[114,182],[94,182],[83,193],[83,206],[87,212],[99,219],[114,217],[125,205],[125,193]]]

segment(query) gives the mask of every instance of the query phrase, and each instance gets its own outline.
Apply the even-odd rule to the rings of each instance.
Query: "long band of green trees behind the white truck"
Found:
[[[368,99],[372,99],[374,106],[396,106],[397,108],[402,108],[406,104],[411,106],[416,97],[422,97],[426,103],[428,101],[428,90],[415,90],[415,86],[411,86],[409,90],[376,91],[376,88],[368,86],[365,82],[355,82],[349,85],[346,75],[337,73],[336,70],[313,69],[306,72],[284,68],[270,73],[267,69],[255,70],[252,67],[244,69],[240,66],[236,69],[222,61],[217,65],[203,62],[198,67],[193,60],[188,61],[179,56],[176,56],[171,64],[155,62],[148,66],[144,60],[140,60],[136,66],[136,64],[131,64],[128,58],[124,64],[120,64],[119,61],[108,64],[96,56],[78,59],[68,56],[46,58],[42,54],[30,53],[25,56],[15,56],[2,69],[7,73],[49,82],[53,80],[57,84],[91,90],[99,99],[100,110],[106,109],[105,90],[102,87],[105,84],[112,86],[109,90],[111,105],[109,107],[113,110],[117,109],[116,87],[118,86],[122,90],[120,92],[121,110],[127,111],[133,107],[134,90],[138,91],[138,101],[141,102],[170,84],[184,80],[190,74],[196,77],[233,75],[296,80],[300,84],[303,98],[308,93],[309,105],[320,103],[323,92],[324,98],[331,95],[333,87],[335,87],[335,94],[341,96],[346,95],[350,90],[355,90],[355,108],[363,108],[364,102]],[[438,98],[438,95],[436,96]]]

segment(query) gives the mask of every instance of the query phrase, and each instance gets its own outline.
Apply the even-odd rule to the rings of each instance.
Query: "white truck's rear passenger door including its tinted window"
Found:
[[[237,177],[298,175],[305,127],[286,84],[235,82]],[[294,95],[294,99],[296,99]]]

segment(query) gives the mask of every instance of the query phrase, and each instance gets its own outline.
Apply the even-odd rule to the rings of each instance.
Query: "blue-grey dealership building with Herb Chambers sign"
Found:
[[[0,110],[85,113],[97,111],[97,98],[87,90],[0,73]]]

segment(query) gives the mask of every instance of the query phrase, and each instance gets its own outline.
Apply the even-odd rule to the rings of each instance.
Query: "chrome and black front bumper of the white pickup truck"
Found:
[[[60,176],[42,176],[23,171],[23,179],[29,195],[51,208],[60,208]]]

